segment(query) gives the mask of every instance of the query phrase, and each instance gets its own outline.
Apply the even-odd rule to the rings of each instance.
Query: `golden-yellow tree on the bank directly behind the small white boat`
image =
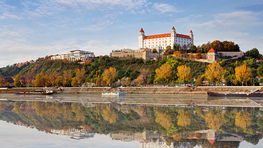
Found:
[[[109,69],[105,69],[104,72],[102,73],[103,81],[109,83],[111,87],[112,83],[116,81],[117,74],[118,73],[115,67],[110,67]]]

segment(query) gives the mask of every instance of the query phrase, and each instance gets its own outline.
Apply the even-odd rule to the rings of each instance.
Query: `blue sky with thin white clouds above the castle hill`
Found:
[[[137,50],[138,35],[193,31],[263,54],[262,0],[0,0],[0,67],[72,50]]]

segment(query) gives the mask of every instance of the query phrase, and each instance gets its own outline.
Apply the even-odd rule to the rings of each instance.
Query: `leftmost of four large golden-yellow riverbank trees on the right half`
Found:
[[[171,65],[163,64],[161,67],[155,69],[156,72],[156,80],[161,81],[165,86],[166,82],[171,80]]]

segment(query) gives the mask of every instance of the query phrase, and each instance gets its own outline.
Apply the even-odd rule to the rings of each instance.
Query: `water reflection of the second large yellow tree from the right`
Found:
[[[204,116],[207,127],[211,129],[219,130],[221,126],[224,124],[224,120],[222,120],[222,113],[220,110],[211,109],[209,112]]]

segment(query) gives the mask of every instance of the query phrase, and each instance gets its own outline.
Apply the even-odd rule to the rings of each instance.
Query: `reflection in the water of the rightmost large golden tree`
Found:
[[[235,125],[237,127],[246,129],[248,126],[250,126],[251,118],[249,117],[248,112],[244,112],[243,110],[240,112],[237,112],[235,117]]]

